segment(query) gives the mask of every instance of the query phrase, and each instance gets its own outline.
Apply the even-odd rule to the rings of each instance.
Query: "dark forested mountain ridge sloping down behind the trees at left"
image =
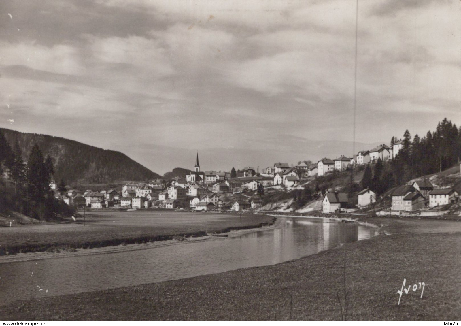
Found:
[[[61,178],[67,184],[103,184],[119,180],[144,181],[160,178],[159,174],[117,151],[97,148],[62,137],[24,133],[6,128],[0,130],[11,147],[14,147],[16,141],[19,142],[25,162],[35,143],[44,156],[49,154],[53,159],[54,179],[57,182]]]

